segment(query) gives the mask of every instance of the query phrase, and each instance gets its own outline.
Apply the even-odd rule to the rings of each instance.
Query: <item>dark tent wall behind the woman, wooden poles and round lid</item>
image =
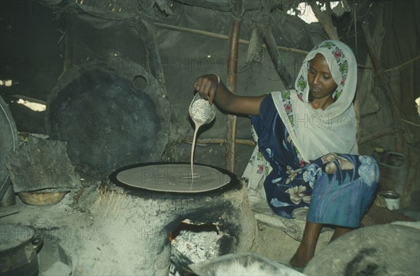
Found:
[[[122,57],[152,74],[169,102],[170,112],[160,111],[167,118],[167,146],[155,161],[189,162],[188,141],[194,125],[188,105],[193,98],[193,82],[209,73],[226,81],[233,20],[241,20],[238,95],[285,89],[261,37],[255,35],[258,22],[268,20],[290,76],[296,76],[305,51],[328,39],[322,20],[308,24],[286,13],[296,8],[298,1],[237,2],[242,4],[239,13],[235,1],[228,0],[1,1],[0,78],[13,80],[13,85],[1,85],[0,93],[10,106],[18,131],[48,134],[45,118],[49,114],[31,111],[17,104],[17,98],[47,104],[57,81],[71,67],[84,68],[91,62]],[[332,11],[324,21],[332,24],[358,60],[355,102],[360,154],[371,155],[375,146],[404,153],[409,170],[401,204],[419,209],[420,116],[414,100],[420,97],[420,17],[416,14],[420,3],[342,2],[349,10],[339,15]],[[369,53],[369,44],[375,56]],[[214,123],[202,127],[197,163],[225,166],[223,139],[230,131],[225,127],[227,118],[218,111]],[[245,141],[235,145],[235,173],[240,176],[253,151],[249,118],[238,116],[236,129],[236,139]],[[138,160],[141,162],[142,157]]]

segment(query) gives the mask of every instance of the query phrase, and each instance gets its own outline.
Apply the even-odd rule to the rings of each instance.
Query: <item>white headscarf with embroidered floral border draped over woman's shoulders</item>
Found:
[[[335,102],[325,110],[309,104],[309,62],[321,53],[328,62],[337,89]],[[305,57],[295,81],[295,90],[272,92],[272,98],[293,143],[309,162],[327,153],[358,154],[356,115],[352,104],[357,84],[353,52],[340,41],[323,41]]]

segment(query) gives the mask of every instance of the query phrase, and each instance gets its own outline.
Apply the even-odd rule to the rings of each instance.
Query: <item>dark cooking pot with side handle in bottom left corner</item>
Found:
[[[43,238],[27,226],[0,226],[0,275],[38,275],[38,258]]]

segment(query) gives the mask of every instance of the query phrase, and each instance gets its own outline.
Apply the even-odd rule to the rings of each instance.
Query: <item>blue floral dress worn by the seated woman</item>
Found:
[[[293,218],[309,207],[307,220],[356,228],[374,198],[379,169],[374,158],[341,153],[305,163],[276,111],[272,96],[251,116],[260,152],[272,166],[264,182],[269,207]]]

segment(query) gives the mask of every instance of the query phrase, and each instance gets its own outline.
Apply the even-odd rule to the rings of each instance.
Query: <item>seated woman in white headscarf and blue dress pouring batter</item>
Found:
[[[304,268],[314,256],[322,226],[331,240],[357,228],[379,180],[377,163],[358,156],[357,64],[340,41],[323,41],[305,58],[294,90],[259,97],[233,95],[220,78],[197,78],[195,90],[229,113],[252,115],[258,146],[272,172],[264,181],[273,212],[289,219],[308,207],[302,242],[290,265]]]

